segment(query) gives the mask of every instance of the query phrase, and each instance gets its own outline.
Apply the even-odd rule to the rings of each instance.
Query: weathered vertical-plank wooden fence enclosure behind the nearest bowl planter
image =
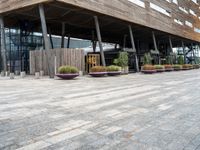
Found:
[[[85,72],[85,56],[82,49],[51,49],[49,51],[30,51],[30,74],[35,74],[41,70],[45,75],[49,75],[48,64],[52,70],[56,70],[62,65],[77,67],[80,71]],[[47,56],[50,56],[49,58]],[[42,57],[42,59],[41,59]],[[47,61],[49,59],[49,61]]]

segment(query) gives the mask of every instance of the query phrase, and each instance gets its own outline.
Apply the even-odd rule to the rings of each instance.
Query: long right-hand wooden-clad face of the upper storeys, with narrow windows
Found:
[[[142,8],[128,0],[57,0],[59,2],[68,3],[74,6],[85,8],[101,14],[109,15],[128,22],[141,24],[153,29],[168,32],[184,38],[200,42],[200,34],[194,32],[194,28],[180,26],[174,22],[174,18],[180,18],[192,22],[196,27],[200,28],[200,20],[191,14],[185,14],[178,9],[183,6],[187,9],[192,8],[200,15],[199,5],[188,0],[179,0],[179,5],[169,3],[165,0],[146,0],[145,3],[152,2],[169,10],[172,17],[163,15],[151,8]],[[147,4],[148,6],[149,4]]]

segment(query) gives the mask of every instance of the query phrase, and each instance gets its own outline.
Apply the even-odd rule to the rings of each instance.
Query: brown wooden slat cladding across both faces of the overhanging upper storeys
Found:
[[[63,7],[73,5],[93,13],[104,14],[126,22],[200,42],[200,33],[194,32],[194,27],[200,28],[199,4],[195,4],[191,0],[178,0],[178,5],[172,2],[169,3],[166,0],[144,0],[145,8],[128,0],[1,0],[0,14],[44,2],[61,2],[66,4]],[[150,3],[164,8],[170,12],[171,17],[153,10],[150,8]],[[197,17],[190,13],[184,13],[179,7],[183,7],[188,11],[192,9],[197,14]],[[181,26],[175,23],[174,19],[180,19],[184,21],[184,24],[185,21],[189,21],[193,24],[193,27]]]

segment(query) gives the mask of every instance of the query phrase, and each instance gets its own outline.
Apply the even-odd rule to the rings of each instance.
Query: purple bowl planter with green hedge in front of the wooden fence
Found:
[[[73,66],[61,66],[58,68],[57,77],[65,80],[74,79],[79,76],[78,69]]]

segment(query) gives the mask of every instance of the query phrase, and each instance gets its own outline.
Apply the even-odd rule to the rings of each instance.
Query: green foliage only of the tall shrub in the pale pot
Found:
[[[119,57],[114,60],[113,62],[115,65],[126,67],[128,66],[128,53],[127,52],[120,52]]]

